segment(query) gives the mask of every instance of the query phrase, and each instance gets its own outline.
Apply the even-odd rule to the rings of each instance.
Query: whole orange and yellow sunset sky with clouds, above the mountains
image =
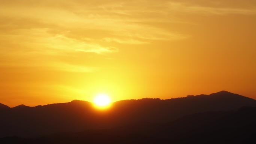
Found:
[[[255,0],[0,0],[0,103],[256,99]]]

